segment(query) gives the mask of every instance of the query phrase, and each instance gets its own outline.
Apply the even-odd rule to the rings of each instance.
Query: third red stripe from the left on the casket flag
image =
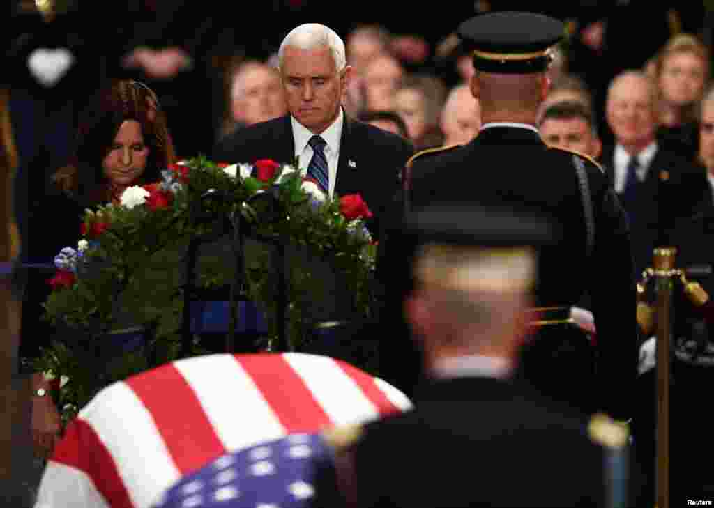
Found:
[[[330,417],[293,367],[279,354],[236,355],[288,434],[318,432]]]

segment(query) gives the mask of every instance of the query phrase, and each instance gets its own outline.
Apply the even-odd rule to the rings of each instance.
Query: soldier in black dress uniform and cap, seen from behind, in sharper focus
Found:
[[[548,93],[549,49],[564,26],[540,14],[497,12],[469,19],[458,31],[473,55],[470,86],[483,125],[465,146],[413,159],[409,207],[508,206],[562,226],[563,240],[540,253],[535,334],[524,347],[521,375],[583,410],[627,419],[638,330],[623,208],[597,163],[546,146],[535,127]],[[584,295],[597,328],[592,358],[586,338],[570,322],[570,308]]]

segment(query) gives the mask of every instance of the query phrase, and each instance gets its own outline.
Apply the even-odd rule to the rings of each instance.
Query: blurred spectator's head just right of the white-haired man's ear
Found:
[[[392,111],[394,94],[406,72],[399,59],[383,54],[364,69],[363,87],[366,111]]]

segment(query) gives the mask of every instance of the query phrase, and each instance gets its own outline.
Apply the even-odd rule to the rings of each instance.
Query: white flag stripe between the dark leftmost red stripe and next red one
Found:
[[[176,410],[176,417],[180,418],[180,407]],[[106,446],[137,508],[149,507],[166,487],[181,477],[154,419],[124,382],[99,392],[80,412],[80,417],[94,428]]]

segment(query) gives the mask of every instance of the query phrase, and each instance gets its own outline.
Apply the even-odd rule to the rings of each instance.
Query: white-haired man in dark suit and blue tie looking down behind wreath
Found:
[[[213,158],[228,163],[297,158],[299,169],[324,193],[359,193],[375,218],[383,217],[413,148],[344,113],[341,98],[352,68],[345,63],[343,41],[326,26],[301,25],[283,39],[279,60],[290,114],[223,138]]]

